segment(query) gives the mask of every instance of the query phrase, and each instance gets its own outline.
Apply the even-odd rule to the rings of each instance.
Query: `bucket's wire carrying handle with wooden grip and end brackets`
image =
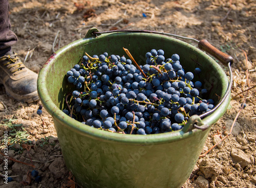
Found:
[[[194,38],[183,37],[183,36],[179,36],[179,35],[175,35],[175,34],[169,34],[169,33],[164,33],[164,32],[145,31],[145,30],[113,30],[113,31],[99,32],[96,28],[91,28],[84,38],[96,37],[96,36],[101,35],[101,34],[116,33],[116,32],[154,33],[154,34],[160,34],[160,35],[168,35],[168,36],[177,37],[177,38],[181,38],[181,39],[193,40],[193,41],[198,43],[199,49],[201,49],[201,50],[203,50],[205,52],[208,52],[211,56],[213,56],[216,59],[218,59],[224,66],[228,67],[229,83],[228,83],[227,90],[226,90],[224,96],[219,101],[219,103],[215,106],[215,108],[211,109],[210,111],[208,111],[208,112],[206,112],[204,114],[201,114],[200,116],[198,116],[198,115],[191,116],[189,118],[187,124],[183,127],[182,131],[183,132],[187,132],[187,131],[190,131],[193,128],[197,128],[197,129],[201,129],[201,130],[208,129],[209,125],[204,125],[202,123],[201,119],[203,117],[205,117],[205,116],[208,116],[211,113],[214,113],[219,108],[219,106],[225,101],[227,96],[229,95],[229,92],[231,91],[231,87],[232,87],[232,80],[233,80],[232,70],[231,70],[231,65],[233,64],[233,58],[231,56],[227,55],[226,53],[220,51],[216,47],[212,46],[205,39],[199,41],[199,40],[194,39]]]

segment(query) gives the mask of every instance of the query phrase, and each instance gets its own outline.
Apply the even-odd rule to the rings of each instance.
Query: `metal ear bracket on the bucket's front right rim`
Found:
[[[182,131],[188,132],[194,128],[206,130],[209,128],[209,125],[204,125],[203,121],[198,115],[193,115],[188,119],[186,125],[182,128]]]

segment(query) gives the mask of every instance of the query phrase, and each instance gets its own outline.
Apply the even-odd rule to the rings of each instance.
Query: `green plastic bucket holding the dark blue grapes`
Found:
[[[212,114],[201,119],[190,118],[184,129],[156,135],[123,135],[84,125],[62,112],[65,96],[72,89],[66,73],[89,55],[125,55],[129,49],[138,64],[151,49],[163,49],[165,57],[178,53],[185,71],[200,67],[201,80],[210,91],[209,97],[219,101],[228,88],[222,68],[205,52],[181,40],[159,34],[115,32],[74,41],[54,53],[42,66],[38,76],[38,94],[53,117],[62,155],[67,168],[81,187],[181,187],[193,171],[212,124],[226,112],[228,97]],[[218,102],[217,102],[218,103]],[[193,128],[209,125],[207,129]]]

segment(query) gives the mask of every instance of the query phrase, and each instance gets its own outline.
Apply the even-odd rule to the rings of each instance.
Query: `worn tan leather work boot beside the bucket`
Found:
[[[37,101],[36,83],[37,74],[25,67],[17,53],[7,52],[0,57],[0,84],[9,96],[22,102]]]

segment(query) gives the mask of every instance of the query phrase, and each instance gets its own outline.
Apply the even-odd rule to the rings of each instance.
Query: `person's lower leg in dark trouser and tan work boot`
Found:
[[[1,0],[0,5],[0,84],[6,93],[23,102],[37,101],[37,74],[20,61],[11,46],[17,42],[10,30],[9,2]]]

